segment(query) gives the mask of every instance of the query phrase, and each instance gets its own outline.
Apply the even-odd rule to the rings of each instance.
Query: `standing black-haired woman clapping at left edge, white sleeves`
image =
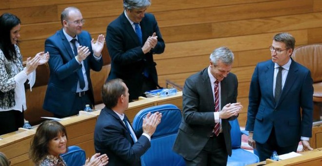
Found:
[[[0,135],[18,130],[24,123],[26,107],[24,83],[35,84],[36,68],[48,62],[49,54],[40,52],[22,66],[18,47],[20,19],[10,13],[0,16]]]

